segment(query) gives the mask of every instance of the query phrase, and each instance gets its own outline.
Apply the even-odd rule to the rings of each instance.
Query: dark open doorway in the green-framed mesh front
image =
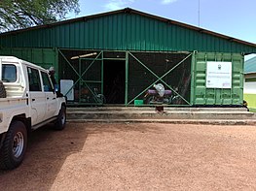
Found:
[[[103,92],[106,104],[125,104],[126,61],[104,60]]]

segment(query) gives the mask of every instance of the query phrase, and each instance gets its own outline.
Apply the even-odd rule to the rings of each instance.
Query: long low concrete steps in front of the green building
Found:
[[[147,107],[68,108],[68,120],[256,120],[244,108],[165,108],[163,112]]]

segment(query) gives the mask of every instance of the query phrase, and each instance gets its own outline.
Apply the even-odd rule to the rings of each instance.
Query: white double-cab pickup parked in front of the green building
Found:
[[[13,56],[0,56],[0,169],[22,162],[27,135],[53,122],[62,130],[66,102],[57,96],[49,72]]]

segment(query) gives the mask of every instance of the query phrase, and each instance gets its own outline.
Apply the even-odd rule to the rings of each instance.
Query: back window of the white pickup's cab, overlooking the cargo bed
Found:
[[[2,65],[2,80],[5,82],[15,82],[17,80],[17,68],[15,65]]]

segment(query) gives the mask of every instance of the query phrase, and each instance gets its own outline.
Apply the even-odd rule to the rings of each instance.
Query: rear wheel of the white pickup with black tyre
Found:
[[[12,170],[23,161],[27,145],[27,131],[24,123],[13,121],[0,150],[0,169]]]

